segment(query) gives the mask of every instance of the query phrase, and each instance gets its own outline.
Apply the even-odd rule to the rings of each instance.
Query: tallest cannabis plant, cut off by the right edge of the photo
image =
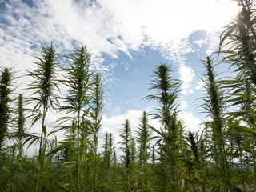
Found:
[[[234,106],[234,112],[230,113],[230,133],[236,138],[242,137],[243,142],[234,150],[239,154],[239,159],[250,166],[255,164],[254,146],[256,134],[255,118],[255,93],[256,93],[256,66],[255,66],[255,40],[256,40],[256,14],[254,0],[237,0],[239,13],[230,25],[226,26],[221,36],[219,53],[224,53],[224,61],[233,66],[236,76],[226,81],[226,87],[230,89],[230,105]],[[235,139],[236,140],[236,139]],[[241,141],[242,141],[241,140]],[[250,160],[246,156],[250,154]],[[236,157],[234,157],[236,158]],[[246,177],[243,177],[243,180]],[[247,179],[247,183],[251,179]]]

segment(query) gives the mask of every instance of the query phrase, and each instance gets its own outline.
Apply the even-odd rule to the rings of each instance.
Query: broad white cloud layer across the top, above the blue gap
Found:
[[[37,54],[34,46],[52,40],[64,53],[83,44],[93,54],[92,66],[110,83],[115,81],[113,66],[104,64],[103,53],[118,58],[119,51],[130,56],[130,50],[151,46],[174,63],[184,63],[184,55],[194,51],[186,39],[190,34],[218,31],[236,12],[230,0],[38,0],[33,4],[6,2],[0,23],[1,65],[30,69]]]

